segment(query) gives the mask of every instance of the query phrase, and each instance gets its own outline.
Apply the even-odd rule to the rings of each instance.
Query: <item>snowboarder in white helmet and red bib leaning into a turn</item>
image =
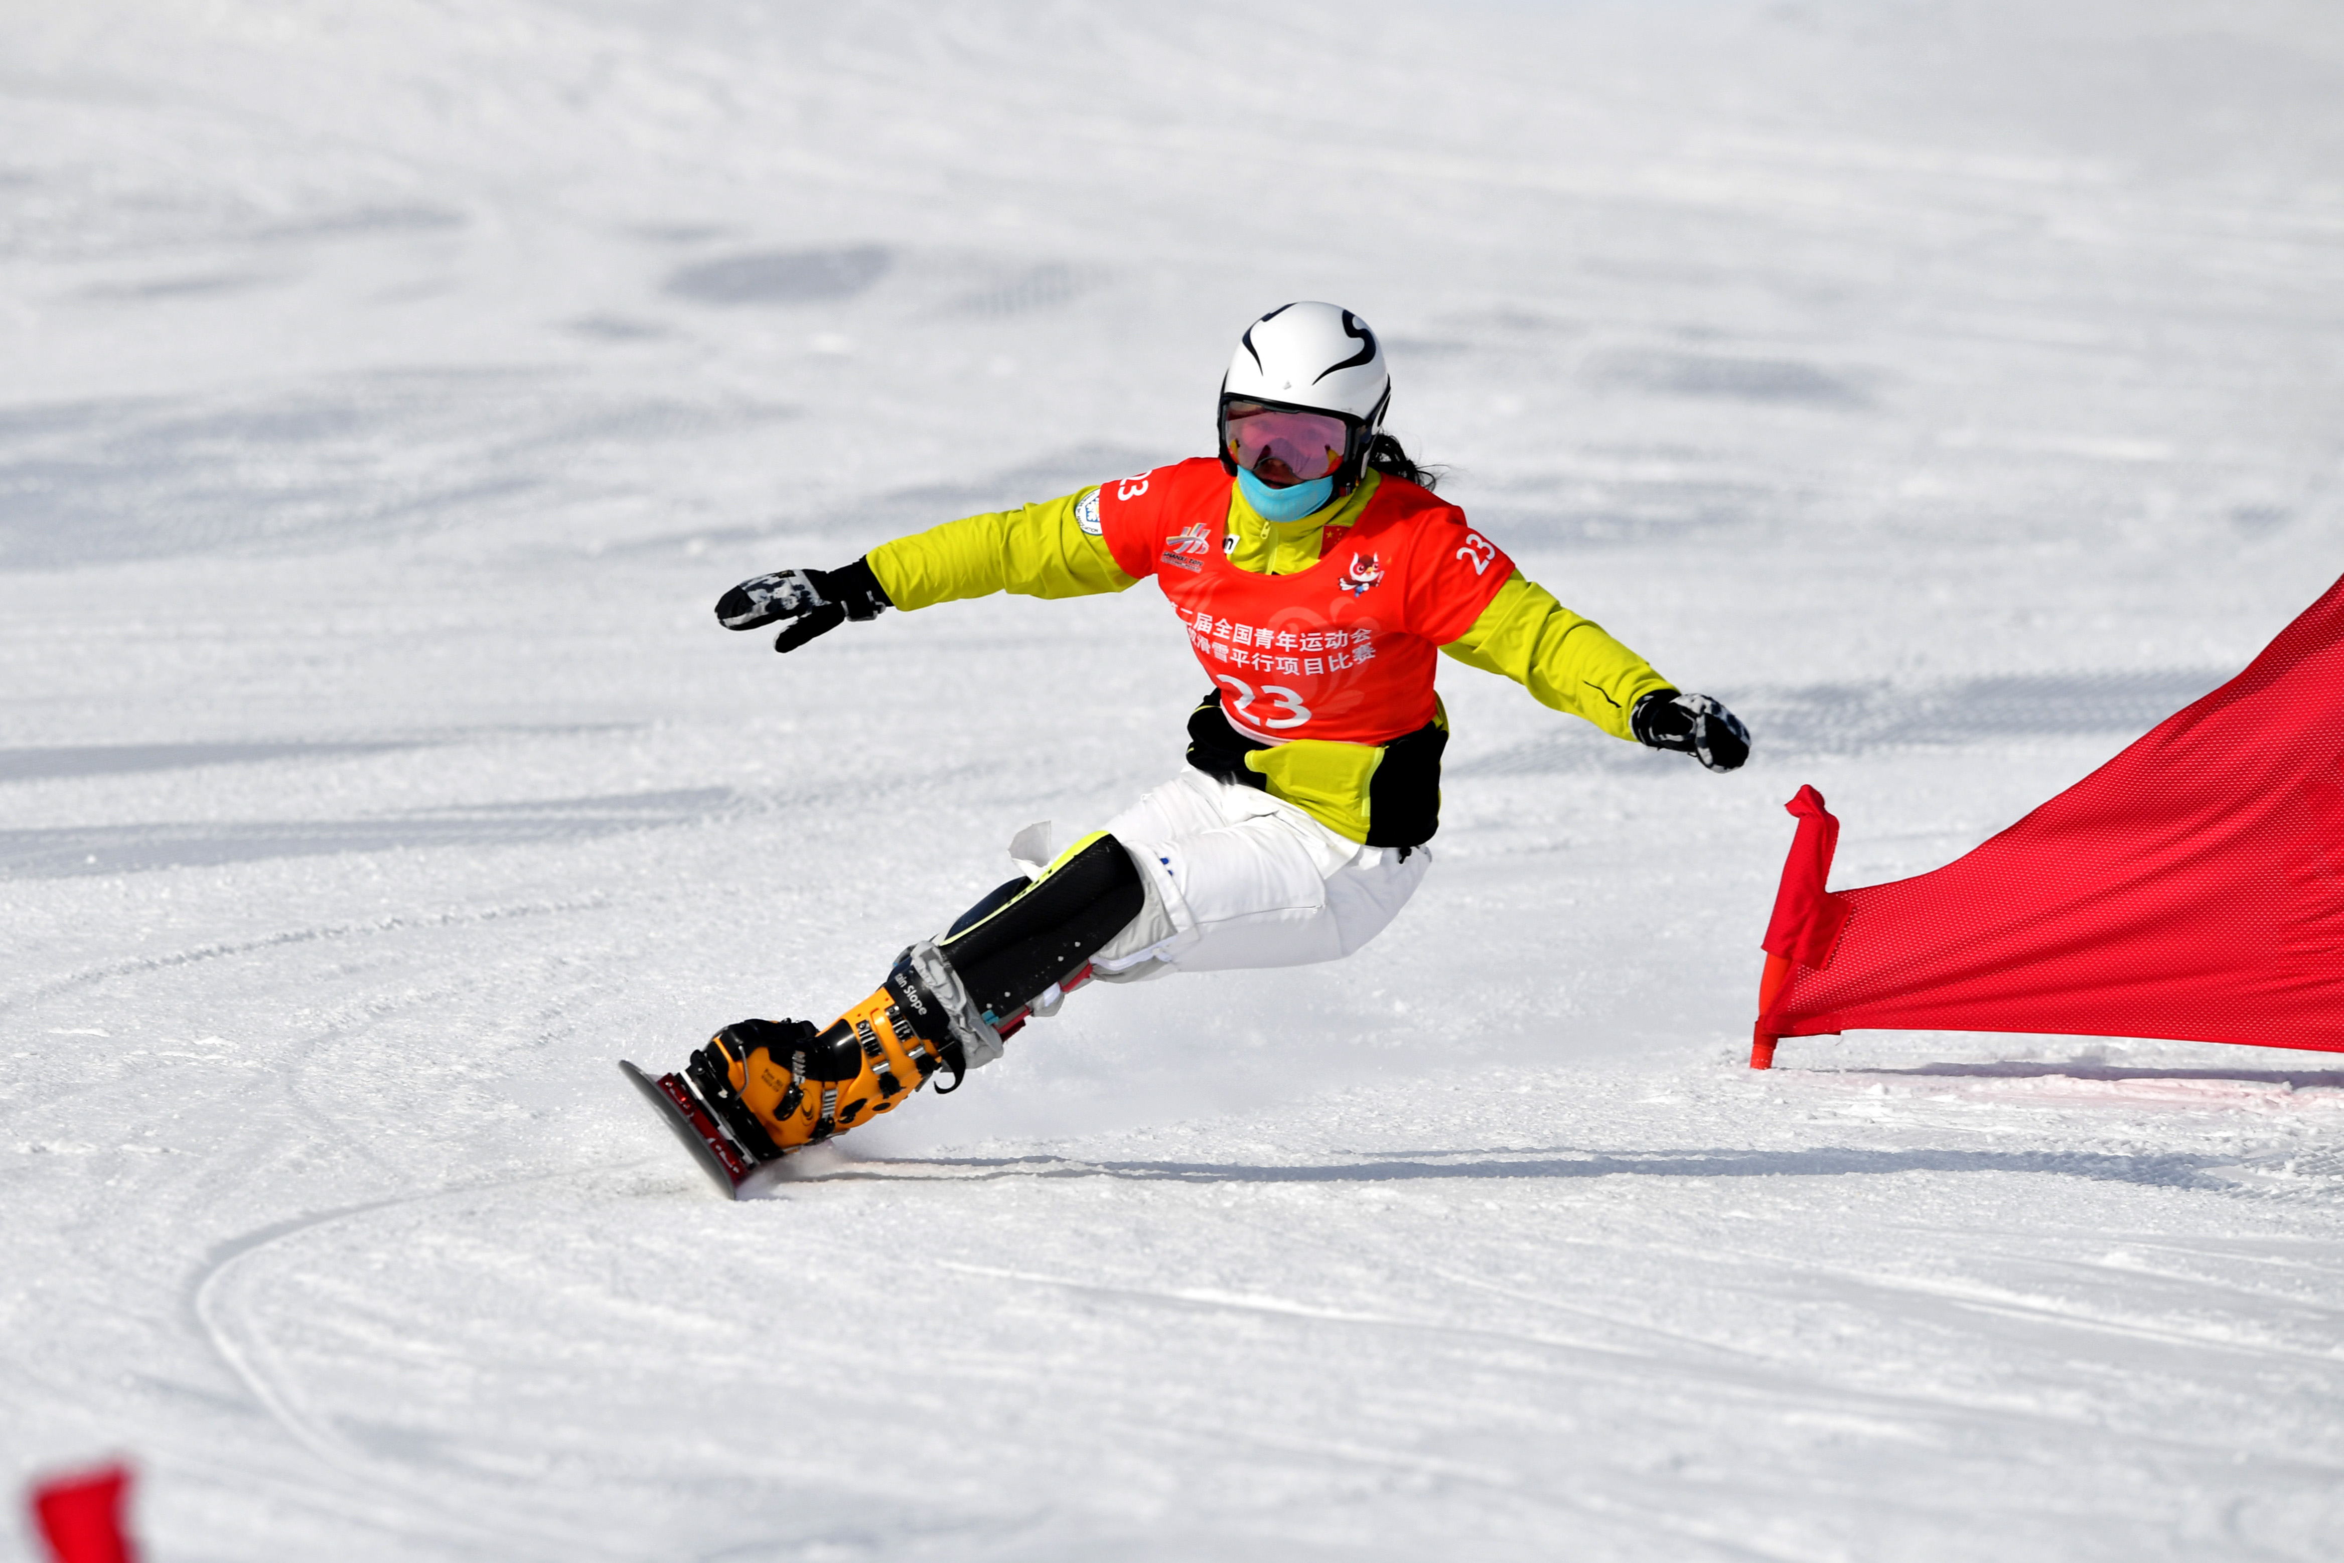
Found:
[[[1219,457],[724,593],[727,628],[783,623],[774,649],[795,651],[888,607],[1156,576],[1212,691],[1174,780],[1055,855],[1043,832],[1020,834],[1027,874],[907,947],[837,1022],[743,1019],[661,1080],[677,1127],[708,1141],[722,1120],[731,1144],[703,1146],[722,1176],[741,1183],[717,1160],[755,1167],[830,1139],[938,1071],[959,1085],[1083,982],[1336,961],[1374,940],[1423,881],[1439,823],[1435,651],[1711,771],[1749,757],[1730,710],[1678,694],[1437,499],[1435,473],[1383,434],[1390,398],[1367,321],[1285,305],[1228,363]]]

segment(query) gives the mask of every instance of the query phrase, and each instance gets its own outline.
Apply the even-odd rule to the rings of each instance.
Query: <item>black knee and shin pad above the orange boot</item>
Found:
[[[984,912],[999,895],[977,902],[938,947],[968,996],[994,1017],[1015,1015],[1078,972],[1146,905],[1139,867],[1104,834]]]

